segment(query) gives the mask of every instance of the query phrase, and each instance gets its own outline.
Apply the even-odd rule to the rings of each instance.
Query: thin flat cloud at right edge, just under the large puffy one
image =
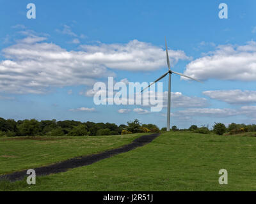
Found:
[[[256,103],[256,91],[220,90],[204,91],[206,96],[230,104]]]

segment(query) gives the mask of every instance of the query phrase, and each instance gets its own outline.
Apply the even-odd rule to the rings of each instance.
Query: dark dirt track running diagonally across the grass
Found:
[[[154,133],[152,135],[143,135],[143,136],[140,136],[140,138],[136,138],[136,140],[134,140],[132,143],[129,143],[128,145],[124,145],[122,147],[118,147],[116,149],[106,150],[105,152],[102,152],[99,154],[91,154],[88,156],[74,157],[66,161],[61,161],[56,164],[51,164],[49,166],[38,167],[38,168],[35,168],[36,176],[49,175],[51,173],[60,173],[72,168],[77,168],[79,166],[86,166],[89,164],[93,164],[102,159],[106,159],[116,154],[128,152],[132,149],[135,149],[136,147],[141,147],[143,145],[146,145],[147,143],[152,142],[152,140],[154,140],[154,138],[156,138],[159,135],[160,133]],[[27,170],[23,170],[23,171],[17,171],[17,172],[6,174],[6,175],[1,175],[0,179],[8,179],[10,181],[22,180],[24,179],[24,177],[28,176],[26,172]]]

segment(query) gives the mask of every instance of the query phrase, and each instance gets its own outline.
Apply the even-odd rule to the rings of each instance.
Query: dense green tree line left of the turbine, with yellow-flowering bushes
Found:
[[[115,123],[79,122],[75,120],[13,120],[0,118],[0,136],[96,136],[129,133],[156,133],[154,124],[141,124],[138,119],[117,126]]]

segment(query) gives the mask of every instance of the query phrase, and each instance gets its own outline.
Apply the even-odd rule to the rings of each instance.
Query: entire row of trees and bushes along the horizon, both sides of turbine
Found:
[[[125,135],[131,133],[158,133],[166,131],[166,128],[161,130],[155,124],[141,124],[138,119],[117,126],[115,123],[95,123],[95,122],[80,122],[75,120],[41,120],[26,119],[13,120],[3,119],[0,117],[0,136],[96,136],[96,135]],[[236,124],[231,123],[228,127],[223,123],[215,123],[212,130],[207,127],[196,125],[190,126],[189,129],[179,129],[177,126],[172,126],[172,131],[192,131],[194,133],[211,133],[218,135],[228,133],[235,135],[246,132],[256,132],[256,124]]]

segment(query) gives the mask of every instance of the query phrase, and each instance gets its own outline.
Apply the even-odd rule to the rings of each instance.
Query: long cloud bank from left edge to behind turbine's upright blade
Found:
[[[44,42],[45,36],[24,32],[26,38],[2,50],[5,59],[0,61],[0,92],[42,94],[52,87],[93,85],[99,78],[113,77],[110,69],[148,71],[166,63],[162,48],[138,40],[83,45],[81,51],[67,51]],[[189,59],[183,51],[169,51],[173,62]]]

